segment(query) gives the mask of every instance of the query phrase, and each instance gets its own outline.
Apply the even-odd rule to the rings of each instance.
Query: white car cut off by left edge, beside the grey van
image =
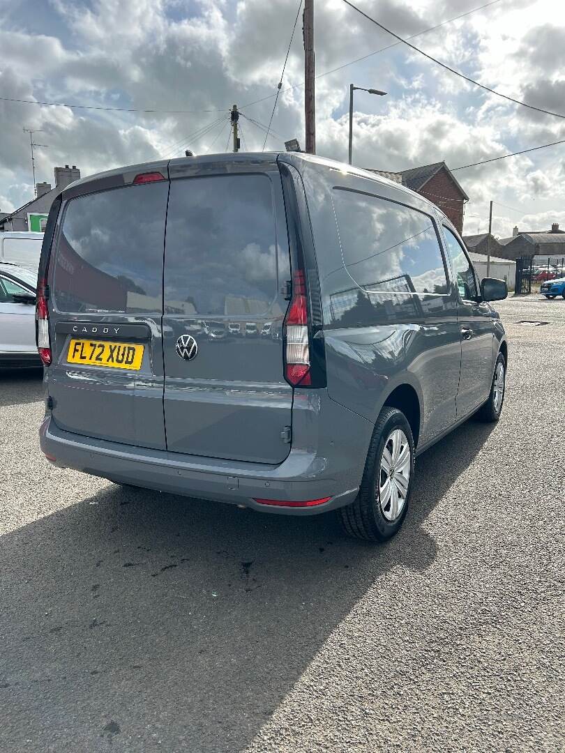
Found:
[[[0,262],[0,367],[40,367],[35,345],[37,273]]]

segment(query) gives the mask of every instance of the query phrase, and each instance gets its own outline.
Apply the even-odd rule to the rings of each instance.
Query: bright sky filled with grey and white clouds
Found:
[[[565,115],[565,4],[355,2],[476,81]],[[246,116],[243,150],[261,151],[297,11],[298,0],[0,0],[0,97],[188,111],[0,100],[0,211],[33,195],[23,128],[38,130],[35,142],[44,145],[35,150],[36,181],[52,184],[54,166],[77,165],[84,176],[181,157],[186,148],[229,151],[234,103]],[[343,0],[316,0],[317,154],[347,161],[350,84],[387,92],[355,94],[359,167],[398,171],[445,160],[454,169],[565,139],[565,119],[487,93],[394,43]],[[304,147],[303,83],[300,17],[266,149],[284,149],[292,138]],[[470,197],[465,235],[487,231],[490,200],[495,236],[512,235],[515,225],[565,229],[565,144],[454,174]]]

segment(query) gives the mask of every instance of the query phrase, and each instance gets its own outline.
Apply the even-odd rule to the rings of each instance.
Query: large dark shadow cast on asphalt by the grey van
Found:
[[[333,517],[115,485],[5,535],[0,747],[242,751],[384,572],[432,564],[423,524],[490,430],[469,422],[418,459],[383,547]]]

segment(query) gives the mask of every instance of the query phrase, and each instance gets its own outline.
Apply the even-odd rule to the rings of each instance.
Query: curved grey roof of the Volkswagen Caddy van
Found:
[[[63,198],[68,198],[72,195],[82,193],[81,191],[76,191],[76,189],[82,186],[86,187],[87,184],[90,183],[98,184],[99,190],[102,190],[104,187],[117,187],[118,184],[130,184],[133,181],[133,178],[135,178],[136,175],[139,175],[139,173],[141,172],[159,171],[163,172],[163,175],[168,175],[170,168],[176,166],[206,166],[213,163],[255,163],[260,165],[273,163],[279,159],[283,162],[294,164],[299,170],[301,170],[301,167],[304,167],[307,164],[308,166],[310,166],[310,169],[319,169],[320,171],[329,169],[350,175],[358,175],[359,178],[364,178],[365,180],[369,180],[372,183],[384,184],[387,187],[394,188],[395,191],[398,191],[402,194],[406,194],[410,197],[417,197],[420,205],[427,204],[428,206],[432,206],[435,209],[438,209],[435,204],[426,199],[426,197],[423,197],[421,194],[417,194],[410,188],[396,183],[395,181],[391,181],[389,180],[389,178],[385,178],[383,175],[378,175],[376,172],[363,170],[359,167],[347,165],[343,162],[337,162],[337,160],[329,160],[326,157],[319,157],[316,154],[306,154],[304,152],[295,151],[246,151],[237,152],[235,154],[233,152],[221,154],[201,154],[194,157],[179,157],[178,159],[173,160],[157,160],[154,162],[143,162],[136,165],[127,165],[124,167],[118,167],[113,170],[107,170],[105,172],[98,172],[95,175],[89,175],[85,178],[81,178],[80,180],[75,181],[74,183],[71,183],[63,191]],[[119,183],[117,181],[118,178],[121,178]],[[441,212],[441,209],[438,211]]]

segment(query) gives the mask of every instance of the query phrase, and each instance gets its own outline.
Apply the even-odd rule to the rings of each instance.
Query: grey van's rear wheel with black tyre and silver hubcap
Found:
[[[402,435],[395,434],[397,431],[402,432]],[[398,446],[394,444],[393,434],[399,441],[399,455],[397,457],[402,459],[407,447],[410,456],[408,459],[405,458],[401,464],[396,465],[396,468],[401,470],[394,474],[392,478],[388,477],[388,486],[386,486],[386,472],[381,463],[385,450],[389,456],[392,456],[392,452]],[[389,465],[386,457],[385,465]],[[392,468],[394,468],[394,465]],[[379,542],[387,541],[395,535],[402,526],[402,521],[408,511],[413,479],[414,438],[410,424],[400,410],[385,406],[379,413],[371,437],[359,494],[350,505],[337,510],[344,532],[353,538]],[[397,490],[399,486],[405,489],[403,501],[402,492],[397,491],[395,495],[392,491],[393,485]],[[381,505],[380,498],[383,489],[383,495],[388,490],[390,490],[390,494],[386,504]],[[397,507],[393,508],[395,499]]]

